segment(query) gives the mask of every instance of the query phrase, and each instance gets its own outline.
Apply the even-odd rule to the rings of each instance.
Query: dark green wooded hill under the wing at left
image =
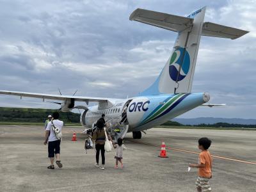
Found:
[[[35,109],[35,108],[0,108],[0,122],[45,122],[48,115],[56,109]],[[65,122],[77,123],[80,121],[80,114],[61,113],[60,119]]]

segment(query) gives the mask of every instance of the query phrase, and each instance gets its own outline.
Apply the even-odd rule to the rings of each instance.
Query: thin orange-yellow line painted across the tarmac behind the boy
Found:
[[[153,146],[153,147],[161,147],[161,145],[154,145],[154,144],[151,144],[151,143],[144,143],[144,142],[140,142],[140,141],[130,141],[130,142],[133,142],[133,143],[140,143],[140,144],[143,144],[143,145],[149,145],[149,146]],[[177,150],[177,151],[180,151],[180,152],[186,152],[186,153],[189,153],[189,154],[200,154],[199,152],[195,152],[195,151],[191,151],[191,150],[184,150],[184,149],[181,149],[181,148],[172,148],[172,147],[166,147],[170,150]],[[212,157],[214,158],[217,158],[217,159],[225,159],[225,160],[228,160],[228,161],[235,161],[235,162],[239,162],[239,163],[246,163],[246,164],[255,164],[256,165],[256,162],[253,162],[253,161],[244,161],[244,160],[241,160],[241,159],[234,159],[234,158],[230,158],[230,157],[224,157],[224,156],[216,156],[216,155],[211,155]]]

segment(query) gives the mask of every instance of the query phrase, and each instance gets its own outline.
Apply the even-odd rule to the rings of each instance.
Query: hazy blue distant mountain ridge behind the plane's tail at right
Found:
[[[215,118],[215,117],[198,117],[198,118],[174,118],[173,121],[183,125],[199,124],[216,124],[219,122],[227,124],[256,125],[256,119],[244,118]]]

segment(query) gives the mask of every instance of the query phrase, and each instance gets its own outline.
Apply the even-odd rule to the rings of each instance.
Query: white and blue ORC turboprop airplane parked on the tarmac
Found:
[[[214,36],[234,40],[248,31],[204,22],[205,9],[205,7],[200,8],[188,17],[140,8],[132,12],[130,20],[178,33],[172,54],[156,81],[136,97],[113,99],[10,91],[0,91],[0,93],[18,95],[20,99],[35,97],[43,101],[60,100],[59,104],[63,112],[74,108],[84,109],[81,113],[81,124],[86,127],[85,130],[92,129],[104,113],[107,127],[113,137],[124,137],[127,132],[132,132],[134,139],[140,139],[141,131],[161,125],[198,106],[215,106],[205,104],[210,100],[209,93],[191,93],[200,38]],[[86,105],[76,106],[76,102],[85,102]],[[89,102],[98,104],[87,107]]]

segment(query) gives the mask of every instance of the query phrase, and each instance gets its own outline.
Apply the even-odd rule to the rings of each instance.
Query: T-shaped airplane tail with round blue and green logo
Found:
[[[178,33],[172,55],[156,81],[140,95],[164,93],[190,93],[195,73],[196,58],[202,35],[222,38],[239,38],[248,31],[204,22],[206,7],[180,17],[166,13],[137,9],[130,20],[136,20]]]

